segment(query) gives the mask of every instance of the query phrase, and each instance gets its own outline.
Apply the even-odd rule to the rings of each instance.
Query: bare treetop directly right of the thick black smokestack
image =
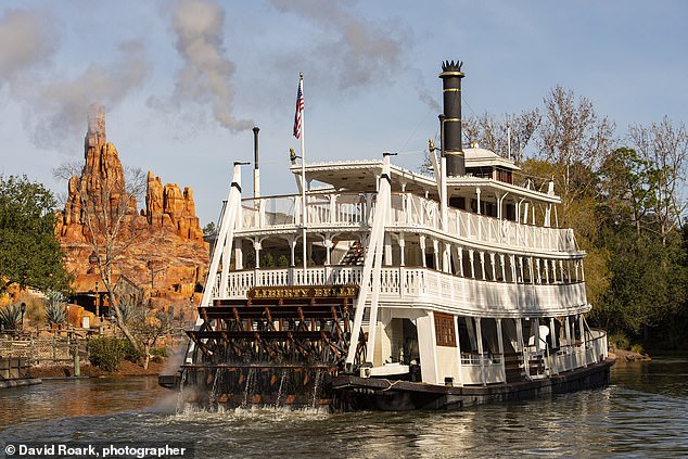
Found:
[[[479,117],[468,117],[463,122],[463,133],[469,144],[476,142],[481,148],[492,150],[500,156],[511,156],[517,163],[523,158],[523,151],[542,123],[537,109],[521,113],[506,114],[498,122],[494,115],[484,113]]]

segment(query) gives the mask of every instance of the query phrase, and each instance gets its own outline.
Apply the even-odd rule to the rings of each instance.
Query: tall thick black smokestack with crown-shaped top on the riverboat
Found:
[[[447,157],[447,176],[466,175],[466,160],[461,144],[461,61],[445,61],[442,64],[442,91],[444,99],[444,144]]]

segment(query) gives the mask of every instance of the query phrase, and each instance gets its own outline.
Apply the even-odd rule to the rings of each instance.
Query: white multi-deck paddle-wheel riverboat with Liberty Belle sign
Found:
[[[162,385],[209,407],[404,410],[609,382],[553,181],[463,148],[461,65],[442,65],[433,175],[391,153],[305,164],[292,152],[298,193],[262,196],[254,129],[254,195],[235,163],[190,345]]]

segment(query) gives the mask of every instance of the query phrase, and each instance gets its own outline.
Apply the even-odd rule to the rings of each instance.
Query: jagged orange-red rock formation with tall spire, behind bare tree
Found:
[[[126,237],[136,234],[137,242],[117,260],[115,270],[150,296],[177,303],[184,298],[188,303],[195,284],[203,281],[208,263],[208,247],[191,189],[186,188],[182,193],[175,183],[163,186],[160,177],[149,171],[145,209],[139,213],[136,200],[123,201],[128,196],[125,173],[117,150],[107,142],[104,110],[100,105],[91,105],[89,111],[84,156],[80,177],[75,175],[68,180],[65,209],[55,227],[67,269],[78,276],[92,268],[88,262],[92,252],[88,241],[92,235],[86,225],[86,209],[98,212],[105,203],[123,205],[123,231]]]

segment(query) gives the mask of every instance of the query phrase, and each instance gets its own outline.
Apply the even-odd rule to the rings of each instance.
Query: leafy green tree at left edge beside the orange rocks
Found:
[[[0,293],[11,284],[66,291],[55,199],[26,176],[0,175]]]

